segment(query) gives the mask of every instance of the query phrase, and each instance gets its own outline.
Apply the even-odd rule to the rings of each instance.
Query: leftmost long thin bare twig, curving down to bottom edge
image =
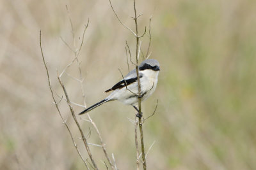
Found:
[[[71,131],[70,131],[68,125],[67,125],[67,122],[64,120],[64,118],[63,118],[62,115],[61,115],[61,112],[60,112],[58,103],[56,102],[56,99],[55,99],[55,97],[54,97],[53,90],[52,90],[52,87],[51,87],[51,80],[50,80],[50,76],[49,76],[48,67],[47,67],[47,64],[46,64],[45,59],[44,59],[44,52],[43,52],[43,50],[42,50],[41,36],[42,36],[42,34],[41,34],[41,31],[40,31],[40,49],[41,49],[42,59],[43,59],[43,61],[44,61],[44,66],[45,66],[46,73],[47,73],[48,85],[49,85],[49,89],[51,90],[52,99],[53,99],[54,104],[55,104],[55,106],[56,106],[56,108],[57,108],[57,110],[58,110],[58,113],[59,113],[59,115],[60,115],[60,117],[61,117],[61,120],[62,120],[63,124],[65,125],[65,127],[66,127],[67,130],[68,130],[68,133],[69,133],[69,135],[70,135],[70,138],[72,139],[72,143],[74,144],[74,146],[75,146],[75,148],[76,148],[76,151],[77,151],[79,157],[83,160],[84,166],[86,167],[86,169],[89,170],[89,167],[88,167],[88,165],[86,164],[86,161],[84,160],[84,158],[83,158],[83,156],[81,155],[79,149],[77,148],[76,142],[74,141],[73,135],[72,135],[72,133],[71,133]]]

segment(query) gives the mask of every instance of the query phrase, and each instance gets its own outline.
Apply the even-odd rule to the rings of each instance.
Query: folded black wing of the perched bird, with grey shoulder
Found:
[[[140,74],[140,78],[142,77],[142,74]],[[122,89],[125,86],[131,85],[131,83],[134,83],[137,81],[137,74],[136,70],[133,69],[130,73],[128,73],[125,78],[118,83],[116,83],[111,89],[106,90],[105,92],[110,92],[112,90],[116,89]]]

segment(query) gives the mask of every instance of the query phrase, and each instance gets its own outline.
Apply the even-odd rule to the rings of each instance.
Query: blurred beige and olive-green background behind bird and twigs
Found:
[[[113,0],[120,19],[134,29],[133,1]],[[161,65],[156,92],[142,104],[148,169],[256,169],[256,1],[161,0],[137,2],[139,31],[152,17],[150,58]],[[74,27],[75,42],[66,10]],[[67,129],[52,103],[42,62],[42,47],[52,88],[79,47],[86,104],[107,96],[105,90],[128,73],[125,41],[134,60],[135,38],[116,19],[108,0],[0,0],[0,169],[84,169]],[[147,53],[148,32],[141,50]],[[74,47],[76,46],[76,47]],[[140,61],[143,59],[142,55]],[[130,64],[130,69],[132,64]],[[76,63],[67,73],[79,78]],[[63,74],[70,99],[83,104],[79,82]],[[83,143],[68,106],[60,110],[85,159]],[[76,113],[83,110],[74,106]],[[90,112],[118,169],[136,169],[134,109],[118,102]],[[87,118],[83,115],[82,118]],[[89,143],[99,138],[78,118]],[[100,169],[102,149],[91,146]]]

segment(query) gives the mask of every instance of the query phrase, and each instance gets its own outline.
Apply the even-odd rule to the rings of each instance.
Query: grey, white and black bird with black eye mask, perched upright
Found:
[[[99,103],[93,104],[78,115],[88,113],[88,111],[97,108],[101,104],[116,100],[126,105],[133,106],[133,108],[139,112],[138,108],[136,107],[138,106],[138,97],[141,97],[141,101],[145,101],[153,94],[153,92],[156,90],[159,71],[160,66],[156,59],[143,60],[138,67],[141,86],[140,96],[138,96],[138,78],[136,69],[133,69],[125,77],[123,76],[123,80],[116,83],[111,89],[105,91],[106,93],[111,92],[108,97]]]

